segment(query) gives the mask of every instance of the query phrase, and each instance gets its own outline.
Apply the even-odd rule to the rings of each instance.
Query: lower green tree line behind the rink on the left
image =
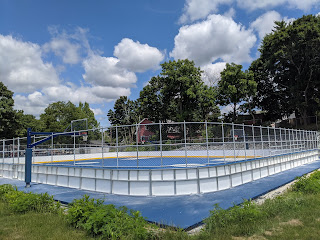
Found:
[[[0,82],[0,139],[25,137],[27,128],[35,132],[64,132],[72,120],[83,118],[88,119],[90,129],[99,127],[87,102],[78,106],[70,101],[51,103],[39,119],[13,107],[13,92]]]

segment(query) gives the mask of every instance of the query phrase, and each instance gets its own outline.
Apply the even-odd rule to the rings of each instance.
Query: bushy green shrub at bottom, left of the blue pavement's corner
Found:
[[[72,225],[103,239],[149,239],[152,236],[138,211],[104,205],[102,200],[90,199],[87,195],[71,203],[67,219]]]

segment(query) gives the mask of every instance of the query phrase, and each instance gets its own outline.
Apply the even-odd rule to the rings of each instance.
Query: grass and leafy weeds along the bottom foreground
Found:
[[[15,205],[6,195],[10,191],[15,190],[0,186],[0,239],[320,239],[320,171],[298,178],[289,191],[261,205],[245,201],[228,210],[214,206],[205,228],[193,236],[157,228],[139,212],[87,196],[74,201],[67,215],[48,195],[33,196],[38,200],[17,208],[22,203]]]

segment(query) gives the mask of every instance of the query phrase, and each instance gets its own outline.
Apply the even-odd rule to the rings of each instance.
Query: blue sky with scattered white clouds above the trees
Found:
[[[319,12],[319,0],[0,0],[0,81],[25,113],[87,101],[106,126],[164,61],[194,60],[215,85],[227,62],[257,58],[275,20]]]

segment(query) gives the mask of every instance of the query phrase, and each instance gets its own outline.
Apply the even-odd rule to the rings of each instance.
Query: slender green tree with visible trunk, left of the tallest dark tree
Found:
[[[232,104],[232,121],[236,121],[237,105],[243,101],[242,110],[246,109],[252,115],[254,109],[253,96],[256,93],[257,83],[253,74],[242,71],[242,65],[227,63],[221,72],[221,80],[218,82],[218,103],[222,106]]]

